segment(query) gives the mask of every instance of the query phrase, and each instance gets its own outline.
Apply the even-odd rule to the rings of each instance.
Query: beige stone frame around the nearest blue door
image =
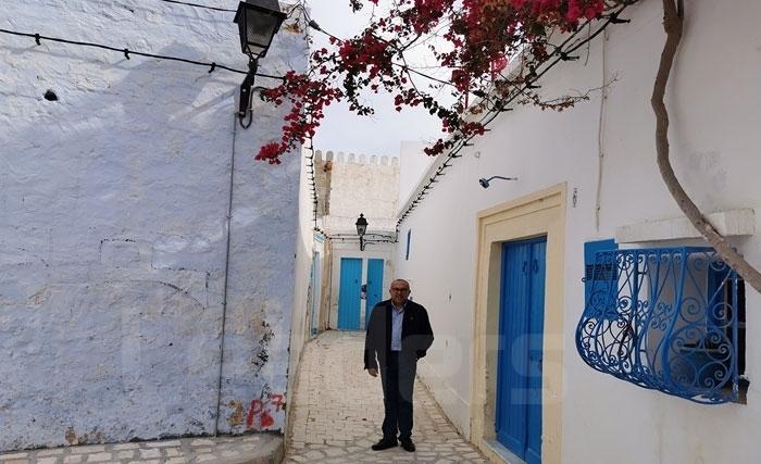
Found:
[[[544,463],[560,463],[562,448],[563,269],[566,185],[558,184],[477,214],[476,296],[471,359],[471,441],[492,462],[501,294],[502,243],[547,236],[542,337]]]

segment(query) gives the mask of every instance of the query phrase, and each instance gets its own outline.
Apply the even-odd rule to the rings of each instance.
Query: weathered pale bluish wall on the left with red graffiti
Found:
[[[2,28],[247,64],[229,12],[1,10]],[[304,55],[282,32],[260,71]],[[0,36],[0,450],[283,428],[299,156],[253,162],[286,109],[254,99],[242,130],[242,75],[207,71]]]

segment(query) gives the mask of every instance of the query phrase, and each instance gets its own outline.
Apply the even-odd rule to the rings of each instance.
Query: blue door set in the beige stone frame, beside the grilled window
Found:
[[[547,239],[502,246],[497,439],[528,464],[541,462],[541,362]]]

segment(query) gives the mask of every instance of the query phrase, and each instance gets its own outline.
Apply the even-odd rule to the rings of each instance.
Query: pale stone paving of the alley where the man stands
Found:
[[[291,398],[285,463],[487,462],[449,424],[420,379],[412,429],[417,451],[372,451],[380,438],[383,391],[379,377],[362,368],[363,343],[362,333],[329,330],[305,347]]]

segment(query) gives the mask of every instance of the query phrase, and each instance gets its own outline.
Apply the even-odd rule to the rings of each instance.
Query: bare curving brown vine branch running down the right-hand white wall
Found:
[[[674,57],[682,41],[684,30],[684,1],[663,0],[663,29],[666,33],[666,41],[661,53],[661,62],[652,89],[652,111],[656,113],[656,150],[658,153],[658,168],[661,172],[663,181],[669,188],[669,192],[674,198],[679,209],[685,213],[693,226],[713,247],[719,255],[743,276],[746,283],[750,284],[756,291],[761,292],[761,273],[750,265],[724,236],[719,234],[706,216],[700,212],[695,202],[679,184],[674,174],[674,168],[669,160],[669,112],[663,103],[665,87],[674,64]]]

